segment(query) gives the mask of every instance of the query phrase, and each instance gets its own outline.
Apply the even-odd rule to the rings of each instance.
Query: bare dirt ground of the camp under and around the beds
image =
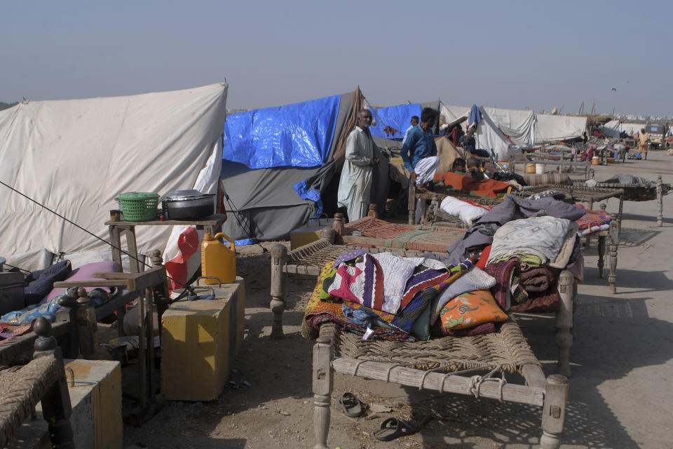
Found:
[[[648,161],[599,166],[596,177],[604,180],[616,173],[651,180],[662,174],[664,182],[673,182],[673,158],[650,152]],[[655,201],[625,203],[616,295],[609,293],[607,273],[605,279],[598,276],[595,245],[585,251],[562,448],[673,447],[673,212],[666,210],[668,200],[663,227],[655,226]],[[616,210],[617,201],[608,205]],[[301,337],[300,324],[315,281],[289,281],[285,337],[272,340],[268,248],[273,244],[247,246],[238,257],[238,274],[246,282],[246,321],[245,342],[230,377],[236,384],[228,385],[217,401],[167,402],[142,427],[124,428],[126,448],[313,447],[313,342]],[[553,316],[518,319],[545,373],[555,373]],[[344,391],[392,411],[348,418],[336,402]],[[345,375],[335,376],[331,410],[331,448],[531,448],[541,434],[541,409],[536,407]],[[372,436],[386,417],[425,415],[435,419],[419,434],[388,443]]]

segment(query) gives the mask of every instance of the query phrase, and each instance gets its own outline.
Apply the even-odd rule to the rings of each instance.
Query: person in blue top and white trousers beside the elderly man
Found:
[[[424,185],[435,177],[435,171],[440,164],[437,157],[437,145],[433,136],[433,124],[437,119],[437,111],[431,107],[423,108],[421,121],[409,130],[407,140],[402,144],[400,153],[405,161],[405,168],[409,170],[409,182]],[[420,222],[425,213],[425,201],[419,199],[416,205],[416,223]]]

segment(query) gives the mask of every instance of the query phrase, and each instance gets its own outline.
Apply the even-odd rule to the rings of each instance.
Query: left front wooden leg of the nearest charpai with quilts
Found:
[[[334,372],[332,371],[332,340],[318,337],[313,345],[313,426],[315,445],[313,449],[329,449],[329,405],[332,401]]]

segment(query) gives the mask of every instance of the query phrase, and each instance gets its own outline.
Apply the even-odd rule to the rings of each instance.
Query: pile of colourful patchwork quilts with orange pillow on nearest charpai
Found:
[[[322,269],[301,333],[315,338],[326,321],[367,339],[395,341],[427,340],[431,328],[440,335],[493,332],[493,323],[507,318],[488,291],[494,285],[470,260],[446,265],[355,250]]]

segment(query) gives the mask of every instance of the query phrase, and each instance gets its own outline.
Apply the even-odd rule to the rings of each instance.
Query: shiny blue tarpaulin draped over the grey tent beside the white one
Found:
[[[226,117],[222,159],[247,168],[318,167],[327,161],[341,95]]]

